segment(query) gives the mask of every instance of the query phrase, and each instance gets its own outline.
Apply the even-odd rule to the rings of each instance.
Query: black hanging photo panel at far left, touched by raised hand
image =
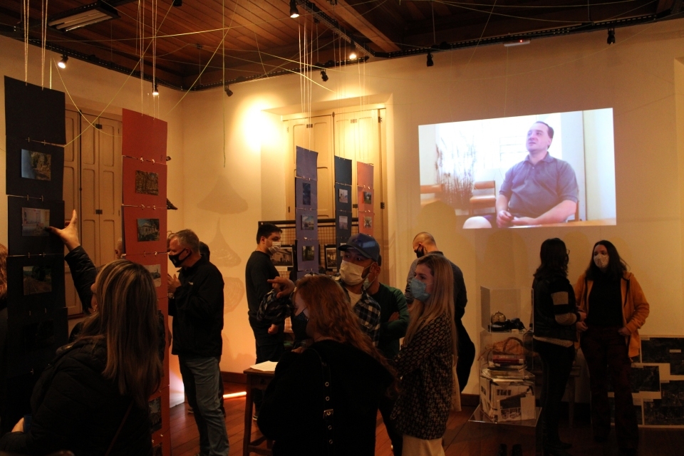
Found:
[[[65,222],[66,106],[58,90],[8,77],[4,84],[9,257],[3,375],[20,378],[43,371],[68,340],[64,245],[48,231]]]

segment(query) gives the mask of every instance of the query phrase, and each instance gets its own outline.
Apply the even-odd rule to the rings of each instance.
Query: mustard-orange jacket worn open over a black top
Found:
[[[589,314],[589,294],[593,285],[594,281],[586,280],[586,274],[579,276],[577,284],[575,284],[577,306],[586,314]],[[620,290],[622,292],[622,324],[630,332],[630,335],[625,338],[625,342],[629,347],[629,357],[633,358],[639,354],[641,339],[638,330],[643,326],[643,323],[646,323],[650,307],[641,285],[631,272],[626,272],[623,276],[620,282]],[[577,340],[579,341],[579,337]]]

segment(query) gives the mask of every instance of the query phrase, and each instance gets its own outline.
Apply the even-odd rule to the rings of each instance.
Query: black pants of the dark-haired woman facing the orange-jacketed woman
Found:
[[[558,435],[559,408],[575,359],[574,346],[534,341],[534,349],[541,356],[543,385],[541,385],[541,417],[544,423],[544,447],[554,447]]]

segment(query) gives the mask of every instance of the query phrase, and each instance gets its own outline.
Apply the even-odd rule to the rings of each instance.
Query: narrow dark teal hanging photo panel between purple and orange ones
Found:
[[[343,157],[335,157],[335,238],[336,247],[346,244],[351,236],[351,221],[352,221],[352,160]],[[328,266],[328,247],[326,247],[326,267]],[[331,260],[332,260],[332,252]],[[342,258],[335,252],[336,268],[340,267]]]

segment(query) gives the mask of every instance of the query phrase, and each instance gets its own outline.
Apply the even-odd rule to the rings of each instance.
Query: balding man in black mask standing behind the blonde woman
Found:
[[[413,261],[406,277],[405,296],[408,304],[413,303],[414,296],[411,294],[411,280],[415,277],[415,266],[418,263],[418,258],[425,255],[442,255],[444,254],[437,249],[437,243],[432,234],[422,232],[415,235],[413,238],[413,252],[417,259]],[[465,281],[463,280],[463,273],[460,267],[453,264],[451,261],[451,268],[454,273],[454,317],[456,323],[456,336],[458,341],[458,361],[456,363],[456,376],[458,377],[458,385],[463,391],[465,385],[468,383],[470,377],[470,368],[475,361],[475,344],[470,340],[468,332],[465,331],[465,326],[461,318],[465,315],[465,306],[468,304],[468,296],[465,290]]]

